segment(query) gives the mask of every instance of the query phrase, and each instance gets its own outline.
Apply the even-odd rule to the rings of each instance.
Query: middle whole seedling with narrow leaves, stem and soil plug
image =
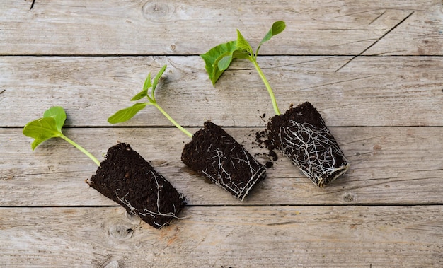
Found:
[[[146,97],[148,99],[146,103],[136,103],[122,109],[109,117],[108,122],[111,124],[125,122],[146,105],[154,105],[178,129],[191,138],[191,141],[183,148],[181,157],[183,163],[243,201],[248,192],[265,178],[265,166],[256,161],[222,127],[207,121],[202,129],[191,134],[173,120],[156,103],[154,95],[159,78],[165,69],[166,65],[161,68],[153,81],[149,74],[144,82],[143,90],[132,98],[132,100],[139,100]],[[151,88],[150,95],[149,88]]]

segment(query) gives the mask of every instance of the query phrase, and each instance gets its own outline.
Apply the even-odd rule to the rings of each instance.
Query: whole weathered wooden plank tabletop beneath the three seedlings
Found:
[[[0,0],[0,267],[442,267],[443,4],[401,1]],[[324,189],[278,154],[244,202],[180,162],[188,136],[154,107],[129,122],[149,72],[195,132],[224,127],[258,160],[272,117],[250,62],[215,87],[199,54],[287,28],[258,62],[280,110],[311,102],[351,163]],[[103,160],[131,144],[188,199],[171,226],[130,216],[85,180],[96,165],[23,126],[60,105],[64,134]],[[264,116],[263,116],[264,115]]]

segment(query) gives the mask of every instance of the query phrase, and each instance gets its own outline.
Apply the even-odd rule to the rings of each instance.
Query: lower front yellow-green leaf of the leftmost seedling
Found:
[[[23,134],[35,139],[31,144],[33,151],[35,147],[37,147],[43,141],[63,135],[59,130],[54,117],[43,117],[38,120],[28,122],[28,124],[26,124],[23,128]]]

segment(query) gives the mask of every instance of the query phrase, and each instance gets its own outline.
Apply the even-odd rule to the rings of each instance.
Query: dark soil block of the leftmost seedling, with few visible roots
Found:
[[[129,144],[109,148],[88,184],[155,228],[176,219],[185,197]]]

